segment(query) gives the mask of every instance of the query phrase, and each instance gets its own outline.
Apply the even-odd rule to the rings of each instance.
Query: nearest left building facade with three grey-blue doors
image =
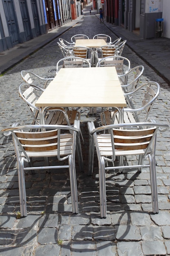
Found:
[[[0,0],[0,52],[45,32],[41,1]]]

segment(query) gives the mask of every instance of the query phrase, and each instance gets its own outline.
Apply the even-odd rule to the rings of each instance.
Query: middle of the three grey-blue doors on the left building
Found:
[[[26,5],[26,0],[20,0],[20,9],[21,9],[21,15],[22,15],[22,21],[24,25],[24,32],[26,41],[31,39],[31,27],[30,27],[30,21],[29,21],[29,14],[28,9]]]

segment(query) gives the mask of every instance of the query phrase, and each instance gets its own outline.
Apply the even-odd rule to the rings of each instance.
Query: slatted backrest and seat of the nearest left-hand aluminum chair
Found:
[[[79,122],[76,120],[75,122]],[[29,162],[30,157],[57,156],[62,161],[75,151],[76,135],[79,129],[75,126],[61,125],[26,125],[4,129],[12,132],[13,142],[18,161],[24,156]],[[68,167],[67,167],[68,168]]]

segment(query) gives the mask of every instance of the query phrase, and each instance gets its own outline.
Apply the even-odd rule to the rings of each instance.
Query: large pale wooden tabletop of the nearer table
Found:
[[[115,67],[61,68],[37,107],[125,107]]]

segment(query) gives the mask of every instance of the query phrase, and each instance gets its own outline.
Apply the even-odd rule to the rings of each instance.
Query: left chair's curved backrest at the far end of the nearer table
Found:
[[[68,67],[91,67],[91,64],[88,60],[81,57],[65,57],[57,62],[56,74],[59,72],[60,68]]]

